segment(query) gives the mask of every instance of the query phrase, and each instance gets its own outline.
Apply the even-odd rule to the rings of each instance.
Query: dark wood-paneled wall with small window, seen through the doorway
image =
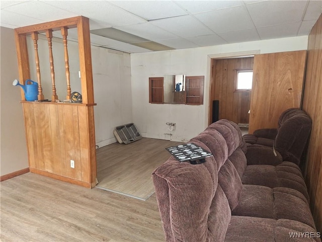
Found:
[[[236,124],[248,124],[251,92],[235,92],[235,70],[251,70],[254,57],[212,59],[210,118],[212,100],[219,100],[219,119],[227,118]],[[209,124],[212,123],[209,120]]]

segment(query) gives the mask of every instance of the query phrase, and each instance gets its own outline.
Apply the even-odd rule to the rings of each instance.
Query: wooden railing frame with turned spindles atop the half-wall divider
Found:
[[[55,70],[54,70],[54,59],[52,50],[52,32],[60,30],[62,43],[64,45],[64,62],[65,62],[65,75],[66,75],[66,99],[71,97],[71,87],[69,78],[69,60],[68,60],[68,48],[67,48],[67,35],[68,29],[77,28],[78,34],[78,46],[79,46],[79,64],[81,69],[81,83],[82,83],[82,97],[83,103],[92,104],[94,103],[93,94],[93,74],[92,74],[92,59],[91,59],[91,46],[90,44],[90,33],[89,33],[89,20],[83,16],[73,17],[64,20],[52,21],[44,24],[31,25],[27,27],[21,27],[15,29],[16,34],[16,46],[18,53],[18,65],[20,67],[20,81],[22,84],[27,79],[30,79],[30,69],[29,69],[29,57],[27,50],[26,36],[31,35],[34,45],[35,52],[35,64],[36,64],[36,74],[38,82],[38,100],[44,99],[43,89],[42,89],[42,79],[41,79],[41,66],[45,64],[40,64],[38,55],[38,34],[46,34],[49,49],[49,65],[50,65],[50,76],[51,76],[51,86],[52,94],[51,100],[55,102],[58,99],[56,93],[55,85]],[[63,98],[65,99],[65,97]],[[25,100],[24,93],[22,92],[22,100]]]

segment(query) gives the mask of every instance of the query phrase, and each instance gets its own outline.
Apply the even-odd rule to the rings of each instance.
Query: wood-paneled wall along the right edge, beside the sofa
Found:
[[[313,120],[306,159],[305,181],[318,231],[322,232],[322,15],[308,38],[302,109]]]

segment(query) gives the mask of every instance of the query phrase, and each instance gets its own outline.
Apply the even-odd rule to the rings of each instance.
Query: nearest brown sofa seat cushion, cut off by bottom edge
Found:
[[[297,237],[298,240],[291,237]],[[256,241],[316,241],[316,231],[301,222],[289,219],[270,219],[257,217],[232,216],[225,240],[226,242]],[[216,241],[216,240],[214,240]]]

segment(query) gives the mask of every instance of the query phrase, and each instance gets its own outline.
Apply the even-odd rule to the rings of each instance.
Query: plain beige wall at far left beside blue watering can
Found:
[[[29,165],[20,88],[12,85],[18,77],[14,30],[0,29],[0,175],[5,175]]]

